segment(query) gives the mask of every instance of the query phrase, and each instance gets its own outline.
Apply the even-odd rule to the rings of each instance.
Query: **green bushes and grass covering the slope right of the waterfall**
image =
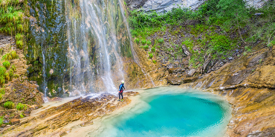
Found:
[[[263,14],[254,15],[255,13]],[[163,37],[167,29],[168,37],[181,36],[182,44],[192,53],[190,63],[195,65],[198,61],[203,64],[209,54],[213,59],[226,59],[232,56],[233,50],[237,48],[242,49],[246,55],[253,51],[252,48],[259,44],[259,41],[268,47],[274,46],[274,18],[274,2],[267,2],[266,6],[255,9],[246,5],[243,0],[208,0],[197,11],[174,8],[157,14],[133,10],[129,13],[128,21],[133,37],[143,40],[150,39],[155,33]],[[182,31],[190,33],[191,36],[184,36]],[[174,41],[170,38],[166,40],[163,46],[156,46],[165,51],[178,52],[180,48],[171,47]],[[163,38],[157,38],[156,42],[164,43]],[[194,51],[195,47],[200,49],[200,52]],[[175,54],[173,58],[177,56],[178,54]]]

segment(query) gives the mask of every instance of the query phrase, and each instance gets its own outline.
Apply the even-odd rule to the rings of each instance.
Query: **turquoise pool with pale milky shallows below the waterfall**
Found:
[[[178,87],[140,91],[129,109],[102,121],[90,136],[222,137],[231,118],[222,97]]]

